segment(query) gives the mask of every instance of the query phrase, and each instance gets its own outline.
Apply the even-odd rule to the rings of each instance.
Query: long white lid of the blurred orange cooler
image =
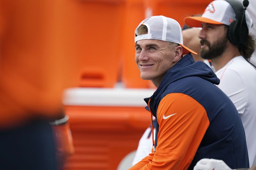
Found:
[[[66,106],[128,106],[145,107],[143,100],[156,89],[132,88],[69,88],[64,91],[63,104]]]

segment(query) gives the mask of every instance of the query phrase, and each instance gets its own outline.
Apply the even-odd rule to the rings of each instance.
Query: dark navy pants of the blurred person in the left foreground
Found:
[[[48,121],[0,130],[0,169],[56,170],[55,144]]]

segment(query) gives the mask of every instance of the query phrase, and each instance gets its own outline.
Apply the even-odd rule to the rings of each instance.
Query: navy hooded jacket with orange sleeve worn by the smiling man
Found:
[[[190,54],[169,69],[144,99],[157,119],[156,151],[131,169],[193,169],[202,158],[230,168],[249,167],[244,128],[236,107],[216,85],[220,80]]]

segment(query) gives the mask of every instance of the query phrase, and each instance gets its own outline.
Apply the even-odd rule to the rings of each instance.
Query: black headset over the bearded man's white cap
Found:
[[[234,0],[226,0],[234,9],[236,14],[236,20],[233,21],[228,27],[228,40],[241,48],[241,45],[244,44],[248,37],[248,27],[245,19],[245,10],[249,5],[248,0],[244,0],[243,5],[239,1]],[[239,49],[240,51],[240,49]]]

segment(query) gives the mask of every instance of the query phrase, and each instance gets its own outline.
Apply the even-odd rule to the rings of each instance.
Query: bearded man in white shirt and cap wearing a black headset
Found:
[[[248,1],[244,2],[248,6]],[[256,163],[256,70],[248,62],[255,40],[248,34],[252,19],[236,0],[215,0],[201,17],[186,17],[188,26],[202,26],[201,57],[211,59],[218,87],[235,104],[242,119],[250,166]],[[228,121],[228,120],[227,120]]]

